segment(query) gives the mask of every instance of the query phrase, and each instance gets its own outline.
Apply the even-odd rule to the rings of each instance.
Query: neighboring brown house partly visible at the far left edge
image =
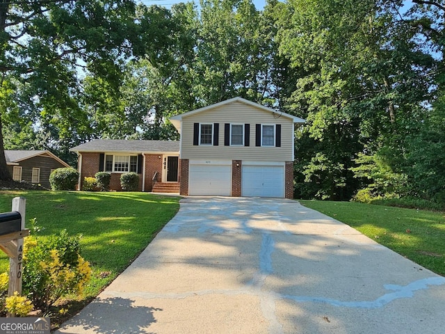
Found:
[[[57,168],[70,167],[49,151],[5,150],[6,165],[13,180],[41,184],[50,188],[49,174]]]

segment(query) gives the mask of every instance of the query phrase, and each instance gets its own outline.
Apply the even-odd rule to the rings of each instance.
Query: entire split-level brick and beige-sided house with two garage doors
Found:
[[[235,97],[170,118],[180,141],[97,140],[72,148],[83,177],[140,175],[140,191],[293,198],[295,125],[305,120]]]

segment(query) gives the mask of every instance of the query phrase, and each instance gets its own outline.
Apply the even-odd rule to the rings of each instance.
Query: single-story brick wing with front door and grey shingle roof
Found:
[[[70,151],[79,157],[79,189],[85,177],[105,171],[111,173],[111,190],[122,190],[120,176],[134,172],[139,191],[179,192],[179,141],[97,139]]]

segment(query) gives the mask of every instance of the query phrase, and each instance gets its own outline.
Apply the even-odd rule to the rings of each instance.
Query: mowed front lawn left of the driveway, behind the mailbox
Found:
[[[40,236],[82,234],[81,255],[91,264],[84,299],[96,296],[140,254],[179,209],[179,197],[131,192],[0,191],[0,212],[26,198],[26,228],[36,218]],[[0,252],[0,273],[8,258]]]

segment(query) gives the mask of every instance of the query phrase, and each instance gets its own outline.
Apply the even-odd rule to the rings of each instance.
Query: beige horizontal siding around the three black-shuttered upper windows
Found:
[[[196,113],[182,119],[181,159],[293,160],[293,121],[240,102]],[[275,117],[274,117],[275,116]],[[193,145],[194,123],[219,123],[219,145]],[[225,123],[250,124],[250,146],[225,146]],[[256,124],[281,127],[281,147],[255,146]]]

